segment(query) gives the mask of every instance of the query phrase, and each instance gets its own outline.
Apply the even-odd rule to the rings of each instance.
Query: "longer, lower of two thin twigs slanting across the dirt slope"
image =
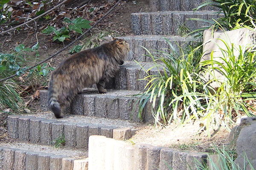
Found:
[[[61,49],[60,51],[58,51],[57,53],[55,53],[55,54],[53,54],[52,56],[48,57],[48,58],[45,59],[44,61],[41,61],[41,62],[39,62],[38,64],[36,64],[36,65],[34,65],[34,66],[32,66],[32,67],[26,68],[26,69],[23,70],[23,71],[28,71],[28,70],[30,70],[30,69],[32,69],[32,68],[35,68],[36,66],[38,66],[38,65],[40,65],[40,64],[42,64],[42,63],[48,61],[49,59],[52,59],[53,57],[55,57],[56,55],[58,55],[59,53],[61,53],[61,51],[64,51],[65,49],[69,48],[69,47],[70,47],[71,45],[73,45],[75,42],[77,42],[77,41],[80,40],[82,37],[84,37],[84,35],[88,34],[88,33],[89,33],[96,25],[98,25],[99,22],[101,22],[105,17],[107,17],[108,14],[110,14],[110,13],[114,10],[114,8],[119,4],[120,1],[121,1],[121,0],[118,0],[117,3],[116,3],[103,17],[101,17],[96,23],[93,24],[93,26],[92,26],[90,29],[88,29],[86,32],[84,32],[84,34],[80,35],[76,40],[74,40],[73,42],[71,42],[70,44],[68,44],[66,47],[62,48],[62,49]],[[22,69],[24,69],[24,68],[25,68],[25,67],[23,67]],[[5,81],[5,80],[7,80],[7,79],[11,79],[11,78],[13,78],[13,77],[15,77],[15,76],[17,76],[17,74],[13,74],[12,76],[9,76],[9,77],[6,77],[6,78],[4,78],[4,79],[1,79],[0,82],[3,82],[3,81]]]

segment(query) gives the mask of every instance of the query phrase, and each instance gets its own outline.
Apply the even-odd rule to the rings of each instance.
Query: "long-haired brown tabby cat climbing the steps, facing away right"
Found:
[[[74,54],[52,72],[49,83],[49,108],[56,118],[83,88],[97,84],[99,93],[106,93],[105,82],[114,77],[124,63],[130,47],[122,39],[114,39],[96,48]]]

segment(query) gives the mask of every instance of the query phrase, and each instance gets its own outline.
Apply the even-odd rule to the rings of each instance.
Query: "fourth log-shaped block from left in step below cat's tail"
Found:
[[[52,123],[55,120],[41,120],[40,140],[41,144],[52,144]]]

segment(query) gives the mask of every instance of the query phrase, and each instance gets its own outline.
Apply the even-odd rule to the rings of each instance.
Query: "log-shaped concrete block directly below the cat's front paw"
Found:
[[[102,94],[95,98],[95,116],[104,118],[108,116],[106,98],[106,94]]]

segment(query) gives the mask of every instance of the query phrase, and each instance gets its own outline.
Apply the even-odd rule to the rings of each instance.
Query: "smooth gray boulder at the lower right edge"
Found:
[[[240,125],[231,130],[229,141],[236,146],[235,163],[243,170],[256,169],[256,117],[241,119]]]

